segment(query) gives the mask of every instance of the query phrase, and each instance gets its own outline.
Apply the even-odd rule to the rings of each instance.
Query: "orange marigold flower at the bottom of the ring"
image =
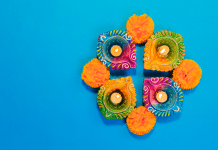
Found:
[[[144,106],[135,108],[126,120],[129,130],[137,135],[144,135],[150,132],[155,123],[156,116]]]

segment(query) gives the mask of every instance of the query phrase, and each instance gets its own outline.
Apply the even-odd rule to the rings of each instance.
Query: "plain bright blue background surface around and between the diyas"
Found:
[[[217,149],[217,5],[216,0],[1,0],[0,149]],[[97,90],[82,82],[81,72],[96,57],[99,34],[126,30],[128,18],[143,13],[152,17],[155,32],[183,36],[185,58],[195,60],[203,75],[195,89],[184,91],[180,115],[158,118],[149,134],[136,136],[125,120],[102,117]],[[120,72],[133,77],[137,106],[145,77],[171,76],[143,71],[143,51],[137,46],[137,69]]]

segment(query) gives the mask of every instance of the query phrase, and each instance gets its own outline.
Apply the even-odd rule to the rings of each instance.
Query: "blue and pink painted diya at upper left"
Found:
[[[99,35],[97,58],[112,69],[136,68],[136,46],[126,31],[113,30]]]

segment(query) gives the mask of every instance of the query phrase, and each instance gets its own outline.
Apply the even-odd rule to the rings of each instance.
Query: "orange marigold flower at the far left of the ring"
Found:
[[[98,88],[110,79],[110,71],[97,58],[83,67],[82,79],[91,87]]]

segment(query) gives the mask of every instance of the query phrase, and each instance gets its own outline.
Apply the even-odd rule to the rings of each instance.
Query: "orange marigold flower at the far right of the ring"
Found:
[[[183,60],[173,71],[175,80],[182,89],[192,89],[198,85],[201,79],[202,70],[194,60]]]

